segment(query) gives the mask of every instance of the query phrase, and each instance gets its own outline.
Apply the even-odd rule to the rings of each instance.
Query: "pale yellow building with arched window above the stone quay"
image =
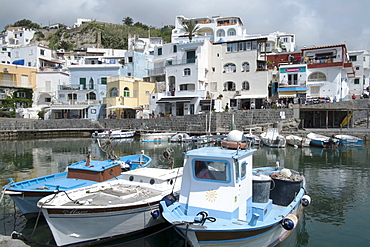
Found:
[[[107,79],[107,118],[142,118],[148,116],[149,96],[155,83],[127,77]]]

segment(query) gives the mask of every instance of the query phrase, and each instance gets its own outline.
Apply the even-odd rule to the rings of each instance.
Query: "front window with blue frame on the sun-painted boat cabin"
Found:
[[[226,182],[229,180],[228,163],[225,161],[194,161],[194,176],[199,180],[214,180]]]

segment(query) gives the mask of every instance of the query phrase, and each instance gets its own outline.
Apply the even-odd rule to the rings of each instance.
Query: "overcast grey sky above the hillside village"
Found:
[[[41,26],[77,18],[155,27],[175,17],[237,16],[248,34],[281,31],[296,35],[297,46],[347,45],[370,50],[369,0],[1,0],[0,29],[22,19]]]

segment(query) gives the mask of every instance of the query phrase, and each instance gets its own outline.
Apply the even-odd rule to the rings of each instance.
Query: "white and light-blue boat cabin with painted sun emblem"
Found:
[[[218,218],[249,221],[254,151],[214,147],[187,151],[179,198],[186,214],[207,211]]]

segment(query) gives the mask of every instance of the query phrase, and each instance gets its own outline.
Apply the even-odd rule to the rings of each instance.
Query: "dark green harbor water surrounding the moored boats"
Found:
[[[124,156],[144,150],[152,157],[151,167],[167,168],[162,158],[173,151],[175,167],[183,165],[183,152],[196,148],[190,144],[141,143],[137,137],[114,142],[115,154]],[[59,138],[2,141],[0,145],[0,183],[9,178],[22,181],[64,171],[70,163],[86,158],[106,159],[106,154],[90,138]],[[254,153],[253,165],[280,166],[303,173],[312,203],[304,210],[304,219],[290,237],[279,246],[368,246],[370,234],[370,143],[362,147],[268,148]],[[30,246],[55,245],[42,217],[27,221],[8,196],[0,204],[0,234],[21,233]],[[172,228],[154,229],[130,238],[117,239],[100,246],[184,246],[184,240]]]

